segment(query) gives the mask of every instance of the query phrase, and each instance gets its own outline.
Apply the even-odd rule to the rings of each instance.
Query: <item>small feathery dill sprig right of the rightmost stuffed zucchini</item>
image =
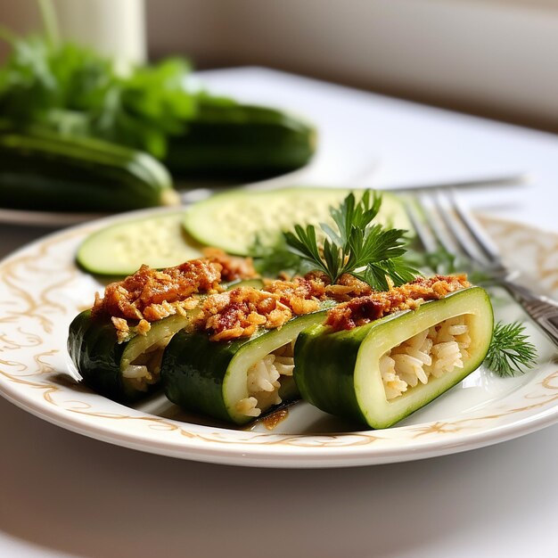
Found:
[[[533,368],[537,360],[537,349],[528,341],[525,327],[519,322],[494,326],[492,342],[485,364],[498,376],[515,376]]]

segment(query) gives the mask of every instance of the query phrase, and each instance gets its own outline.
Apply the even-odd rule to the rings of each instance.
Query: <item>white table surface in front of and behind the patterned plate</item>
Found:
[[[270,70],[202,78],[317,123],[319,152],[298,183],[390,187],[528,171],[527,187],[466,197],[558,232],[554,135]],[[46,232],[0,225],[0,256]],[[0,399],[0,440],[2,557],[558,556],[558,425],[405,464],[271,470],[111,446]]]

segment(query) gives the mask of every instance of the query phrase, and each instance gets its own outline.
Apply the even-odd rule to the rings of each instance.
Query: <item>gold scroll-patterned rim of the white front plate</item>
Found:
[[[483,224],[505,255],[521,258],[521,267],[534,270],[531,275],[540,278],[544,290],[558,297],[558,237],[488,218],[483,218]],[[82,421],[86,429],[93,422],[115,439],[119,433],[135,437],[147,450],[151,450],[154,435],[157,442],[178,447],[184,444],[182,440],[187,440],[187,447],[216,443],[223,447],[308,449],[378,444],[404,447],[416,440],[443,441],[460,432],[487,431],[509,424],[505,419],[510,415],[530,416],[558,406],[555,370],[535,371],[533,380],[520,386],[509,401],[504,398],[465,415],[386,431],[331,435],[237,431],[181,423],[119,406],[72,380],[70,359],[63,349],[71,318],[92,303],[95,289],[102,288],[73,262],[78,243],[95,227],[82,226],[53,235],[0,264],[0,390],[37,414],[55,415],[57,423],[73,417],[71,420]],[[45,413],[45,406],[50,411]]]

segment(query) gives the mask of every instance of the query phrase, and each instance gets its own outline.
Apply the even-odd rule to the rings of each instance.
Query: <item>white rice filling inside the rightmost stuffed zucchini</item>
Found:
[[[388,401],[419,382],[463,368],[469,358],[471,336],[468,316],[436,324],[393,347],[380,357],[380,373]]]

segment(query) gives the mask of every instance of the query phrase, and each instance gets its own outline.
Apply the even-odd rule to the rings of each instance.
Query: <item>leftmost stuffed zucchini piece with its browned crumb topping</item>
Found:
[[[163,349],[173,335],[193,327],[198,306],[211,293],[258,288],[251,264],[209,250],[161,271],[142,266],[122,281],[110,283],[103,298],[70,324],[68,350],[83,382],[99,394],[132,402],[160,381]],[[223,283],[223,280],[227,283]]]

